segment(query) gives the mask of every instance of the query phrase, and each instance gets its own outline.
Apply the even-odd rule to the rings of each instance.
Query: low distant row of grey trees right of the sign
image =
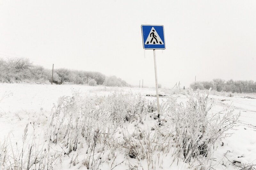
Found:
[[[190,84],[192,89],[210,89],[216,91],[226,91],[232,93],[255,93],[256,82],[253,80],[222,80],[213,79],[212,81],[196,81]]]

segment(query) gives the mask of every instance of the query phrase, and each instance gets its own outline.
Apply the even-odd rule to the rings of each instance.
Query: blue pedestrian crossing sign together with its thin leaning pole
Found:
[[[164,26],[163,25],[141,25],[142,41],[144,49],[152,49],[154,53],[155,78],[156,78],[156,101],[157,117],[160,125],[160,106],[156,69],[156,49],[165,49]]]

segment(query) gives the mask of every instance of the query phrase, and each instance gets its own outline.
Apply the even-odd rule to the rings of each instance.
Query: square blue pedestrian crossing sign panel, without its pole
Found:
[[[144,49],[165,49],[163,25],[141,25]]]

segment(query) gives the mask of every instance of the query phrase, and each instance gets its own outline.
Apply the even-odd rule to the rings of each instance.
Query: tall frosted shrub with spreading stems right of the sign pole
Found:
[[[208,94],[188,91],[188,99],[186,107],[178,104],[172,110],[174,141],[185,161],[190,161],[191,157],[210,155],[214,143],[235,126],[240,116],[233,115],[233,110],[229,109],[209,114],[213,102],[208,104]]]

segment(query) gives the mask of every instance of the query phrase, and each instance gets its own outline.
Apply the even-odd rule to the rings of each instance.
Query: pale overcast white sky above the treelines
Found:
[[[158,81],[256,81],[256,1],[0,0],[0,57],[99,71],[154,86],[153,50],[140,25],[164,25]]]

